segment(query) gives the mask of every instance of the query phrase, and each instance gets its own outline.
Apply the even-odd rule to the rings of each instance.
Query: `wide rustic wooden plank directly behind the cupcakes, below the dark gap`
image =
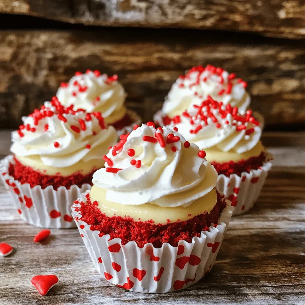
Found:
[[[49,100],[62,81],[88,68],[117,73],[128,93],[127,106],[149,121],[176,78],[193,65],[207,63],[248,81],[251,106],[265,116],[267,128],[305,127],[303,41],[202,33],[0,31],[0,127],[19,126],[20,117]]]

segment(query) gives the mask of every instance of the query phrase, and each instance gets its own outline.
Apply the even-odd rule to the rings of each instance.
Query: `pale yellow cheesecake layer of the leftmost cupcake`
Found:
[[[53,167],[45,165],[39,155],[34,156],[15,156],[23,165],[30,166],[34,170],[41,172],[44,175],[56,175],[70,176],[75,173],[80,173],[83,175],[91,173],[93,170],[98,170],[104,167],[105,161],[101,159],[92,159],[88,162],[82,160],[68,167]]]

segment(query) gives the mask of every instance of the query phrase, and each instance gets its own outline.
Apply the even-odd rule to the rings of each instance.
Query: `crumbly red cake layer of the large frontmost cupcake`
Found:
[[[81,202],[81,206],[76,208],[76,211],[81,212],[80,220],[91,224],[92,231],[100,231],[100,236],[109,234],[110,239],[120,238],[122,245],[134,240],[140,248],[149,242],[155,248],[161,248],[164,242],[168,242],[172,246],[178,246],[179,240],[192,242],[193,237],[200,237],[201,231],[209,230],[212,223],[217,224],[220,214],[226,206],[224,196],[217,192],[217,203],[210,213],[197,215],[187,221],[154,224],[153,221],[134,221],[129,217],[107,217],[97,207],[97,201],[92,203],[89,194],[86,195],[86,198],[87,202]]]

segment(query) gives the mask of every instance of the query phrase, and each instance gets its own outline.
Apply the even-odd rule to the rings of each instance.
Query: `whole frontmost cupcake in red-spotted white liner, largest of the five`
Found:
[[[118,287],[186,288],[212,268],[234,207],[198,146],[152,122],[104,156],[91,191],[72,206],[90,257]]]

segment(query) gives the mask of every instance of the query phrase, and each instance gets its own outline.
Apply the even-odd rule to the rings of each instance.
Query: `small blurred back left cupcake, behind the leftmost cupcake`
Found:
[[[98,70],[76,72],[68,83],[61,83],[56,93],[64,106],[73,104],[88,112],[99,111],[118,135],[131,132],[135,124],[141,123],[140,117],[124,106],[126,95],[117,75],[108,76]]]

